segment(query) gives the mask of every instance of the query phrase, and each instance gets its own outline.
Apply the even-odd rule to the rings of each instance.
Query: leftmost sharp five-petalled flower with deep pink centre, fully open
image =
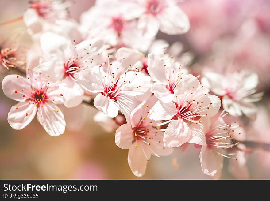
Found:
[[[4,94],[19,101],[11,107],[8,122],[13,129],[25,128],[36,116],[43,128],[51,136],[64,133],[66,122],[57,103],[61,103],[59,81],[56,77],[40,73],[41,69],[54,71],[55,62],[44,62],[28,73],[25,78],[20,75],[8,75],[2,81]]]

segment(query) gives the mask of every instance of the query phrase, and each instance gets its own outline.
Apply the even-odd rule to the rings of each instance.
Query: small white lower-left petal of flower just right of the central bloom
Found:
[[[152,92],[162,102],[171,102],[173,100],[173,94],[169,91],[165,85],[155,82],[151,88]]]

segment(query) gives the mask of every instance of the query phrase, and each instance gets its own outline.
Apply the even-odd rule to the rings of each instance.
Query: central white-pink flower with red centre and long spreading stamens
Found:
[[[125,52],[121,48],[118,51],[123,54]],[[116,55],[125,61],[121,54],[117,52]],[[129,71],[129,68],[114,66],[108,62],[107,72],[103,66],[96,66],[76,73],[75,78],[88,91],[98,93],[94,99],[98,110],[112,118],[116,117],[120,110],[128,118],[130,112],[141,102],[140,98],[144,98],[140,96],[147,93],[151,87],[149,76],[140,72],[140,69]],[[123,72],[123,69],[126,70]]]

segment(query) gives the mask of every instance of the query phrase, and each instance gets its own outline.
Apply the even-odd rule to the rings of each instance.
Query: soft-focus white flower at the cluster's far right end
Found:
[[[247,70],[225,75],[205,72],[202,83],[214,94],[222,97],[222,106],[233,116],[245,114],[256,119],[256,106],[253,102],[261,100],[262,93],[254,94],[259,83],[258,76]]]

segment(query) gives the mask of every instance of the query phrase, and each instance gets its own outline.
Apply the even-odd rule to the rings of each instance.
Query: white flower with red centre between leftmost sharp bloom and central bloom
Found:
[[[83,101],[84,90],[78,84],[74,74],[102,64],[102,52],[106,46],[101,40],[92,39],[84,40],[74,47],[70,40],[52,32],[42,34],[40,41],[45,56],[56,61],[55,72],[58,80],[63,79],[59,87],[64,95],[65,106],[79,105]]]

